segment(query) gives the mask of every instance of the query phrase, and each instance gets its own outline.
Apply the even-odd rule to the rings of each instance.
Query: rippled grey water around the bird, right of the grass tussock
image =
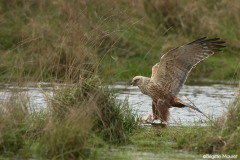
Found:
[[[133,107],[139,115],[144,116],[152,112],[152,100],[143,95],[138,87],[130,87],[124,83],[110,86],[119,90],[118,98],[123,100],[128,98],[130,106]],[[209,85],[209,86],[188,86],[181,89],[178,97],[189,104],[193,103],[201,111],[210,117],[216,118],[222,115],[229,103],[234,99],[237,87],[230,85]],[[170,124],[181,123],[191,125],[195,122],[201,122],[206,118],[189,108],[170,108]]]

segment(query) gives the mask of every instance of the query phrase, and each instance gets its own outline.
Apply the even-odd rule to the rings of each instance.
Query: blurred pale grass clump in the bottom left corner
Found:
[[[36,140],[42,132],[45,120],[42,115],[30,113],[26,95],[13,93],[0,107],[0,152],[5,156],[16,156],[26,152],[25,145]],[[28,148],[29,149],[29,148]]]

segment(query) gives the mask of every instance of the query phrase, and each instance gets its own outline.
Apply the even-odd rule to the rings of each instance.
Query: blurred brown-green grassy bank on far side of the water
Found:
[[[222,38],[227,48],[200,63],[189,80],[236,80],[239,6],[237,0],[3,0],[0,78],[78,81],[98,72],[108,81],[129,80],[150,75],[168,49],[207,36]]]

